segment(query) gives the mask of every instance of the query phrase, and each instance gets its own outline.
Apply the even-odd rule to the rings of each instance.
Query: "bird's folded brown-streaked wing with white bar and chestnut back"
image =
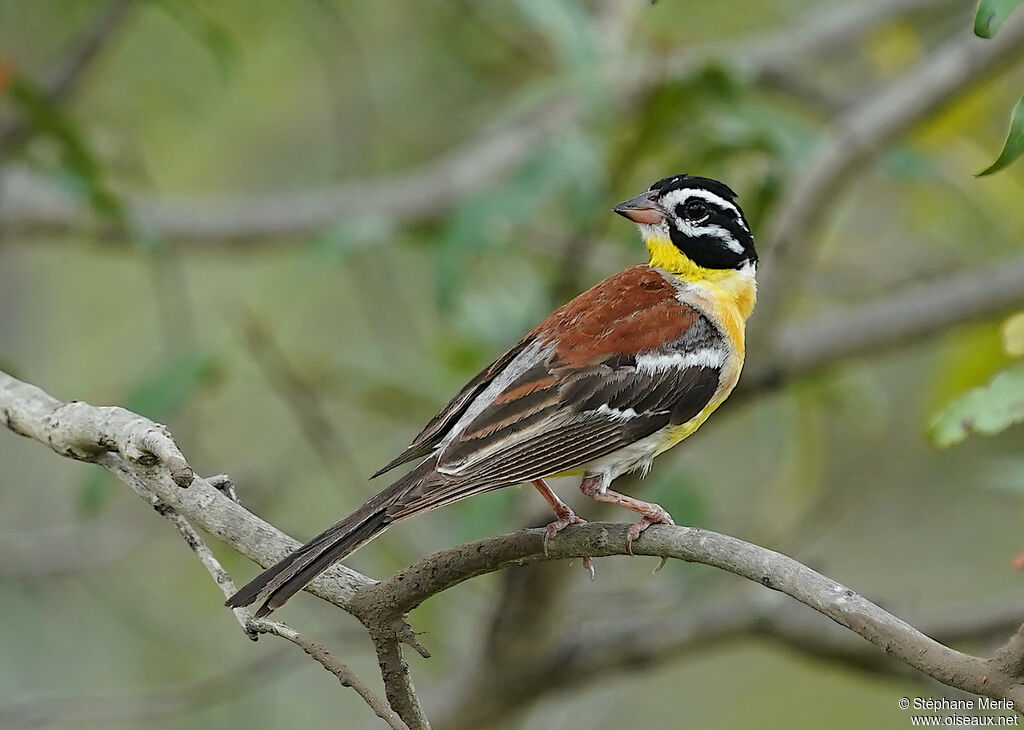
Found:
[[[524,342],[439,442],[443,479],[410,491],[393,519],[571,470],[685,423],[718,391],[728,354],[709,319],[646,266],[581,295]]]

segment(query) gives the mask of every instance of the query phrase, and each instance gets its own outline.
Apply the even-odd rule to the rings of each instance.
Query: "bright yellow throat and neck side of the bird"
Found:
[[[748,317],[757,301],[754,268],[705,268],[693,262],[668,238],[644,237],[649,265],[656,266],[692,285],[698,301],[716,321],[721,323],[736,346],[743,352]]]

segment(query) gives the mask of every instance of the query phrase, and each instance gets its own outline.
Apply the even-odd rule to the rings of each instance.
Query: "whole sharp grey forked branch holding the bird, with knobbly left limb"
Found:
[[[252,557],[256,557],[254,553],[266,555],[268,550],[284,552],[292,547],[285,535],[274,533],[268,525],[269,534],[265,538],[274,543],[272,548],[238,540],[238,532],[245,530],[225,528],[221,520],[251,522],[257,518],[224,497],[210,480],[193,477],[187,488],[181,487],[179,484],[186,483],[186,477],[191,475],[190,467],[166,429],[146,419],[122,409],[60,403],[3,373],[0,373],[0,417],[15,432],[40,440],[58,454],[97,463],[128,483],[174,521],[225,593],[233,591],[233,584],[184,517],[177,514],[179,506],[183,514],[209,524],[211,531],[234,535],[233,543],[240,551]],[[172,474],[177,481],[172,480]],[[169,499],[165,500],[165,495]],[[197,504],[182,500],[182,495],[200,495],[204,499]],[[231,506],[226,516],[225,505]],[[211,519],[211,513],[218,516]],[[406,631],[404,614],[426,598],[469,577],[546,559],[542,534],[543,530],[528,530],[443,551],[380,584],[352,571],[339,570],[345,575],[345,588],[335,585],[332,591],[325,592],[324,586],[318,586],[313,592],[326,593],[329,600],[344,606],[371,630],[392,707],[411,727],[427,727],[398,647],[398,639]],[[625,540],[624,525],[592,523],[561,533],[549,546],[548,558],[626,554]],[[1019,638],[996,659],[963,654],[791,558],[715,532],[652,527],[634,546],[634,551],[702,562],[756,581],[804,602],[944,684],[986,696],[1006,696],[1016,706],[1024,707],[1018,651],[1018,644],[1024,642]],[[252,629],[248,616],[239,616],[239,620],[247,631]],[[741,626],[729,624],[721,627],[719,633],[736,632]],[[696,638],[683,632],[680,643]],[[616,645],[622,647],[623,643]],[[600,667],[600,661],[595,661],[595,667]]]

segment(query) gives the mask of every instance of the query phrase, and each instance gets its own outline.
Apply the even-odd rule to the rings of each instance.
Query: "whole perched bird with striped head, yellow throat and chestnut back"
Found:
[[[227,601],[280,608],[390,525],[501,487],[531,483],[555,520],[544,546],[584,523],[548,485],[579,475],[588,497],[633,510],[627,544],[674,524],[660,506],[610,488],[646,474],[729,396],[744,359],[758,256],[736,194],[708,177],[654,182],[612,211],[633,221],[648,261],[580,294],[476,377],[371,478],[418,464]],[[590,560],[584,561],[591,570]]]

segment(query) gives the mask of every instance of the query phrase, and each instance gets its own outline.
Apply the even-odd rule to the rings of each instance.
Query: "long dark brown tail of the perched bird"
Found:
[[[398,505],[410,491],[419,491],[436,478],[434,460],[428,459],[347,517],[335,522],[291,555],[257,575],[225,605],[232,608],[266,600],[256,616],[265,616],[301,591],[334,562],[366,545],[390,526],[388,508]],[[392,510],[393,511],[393,510]]]

